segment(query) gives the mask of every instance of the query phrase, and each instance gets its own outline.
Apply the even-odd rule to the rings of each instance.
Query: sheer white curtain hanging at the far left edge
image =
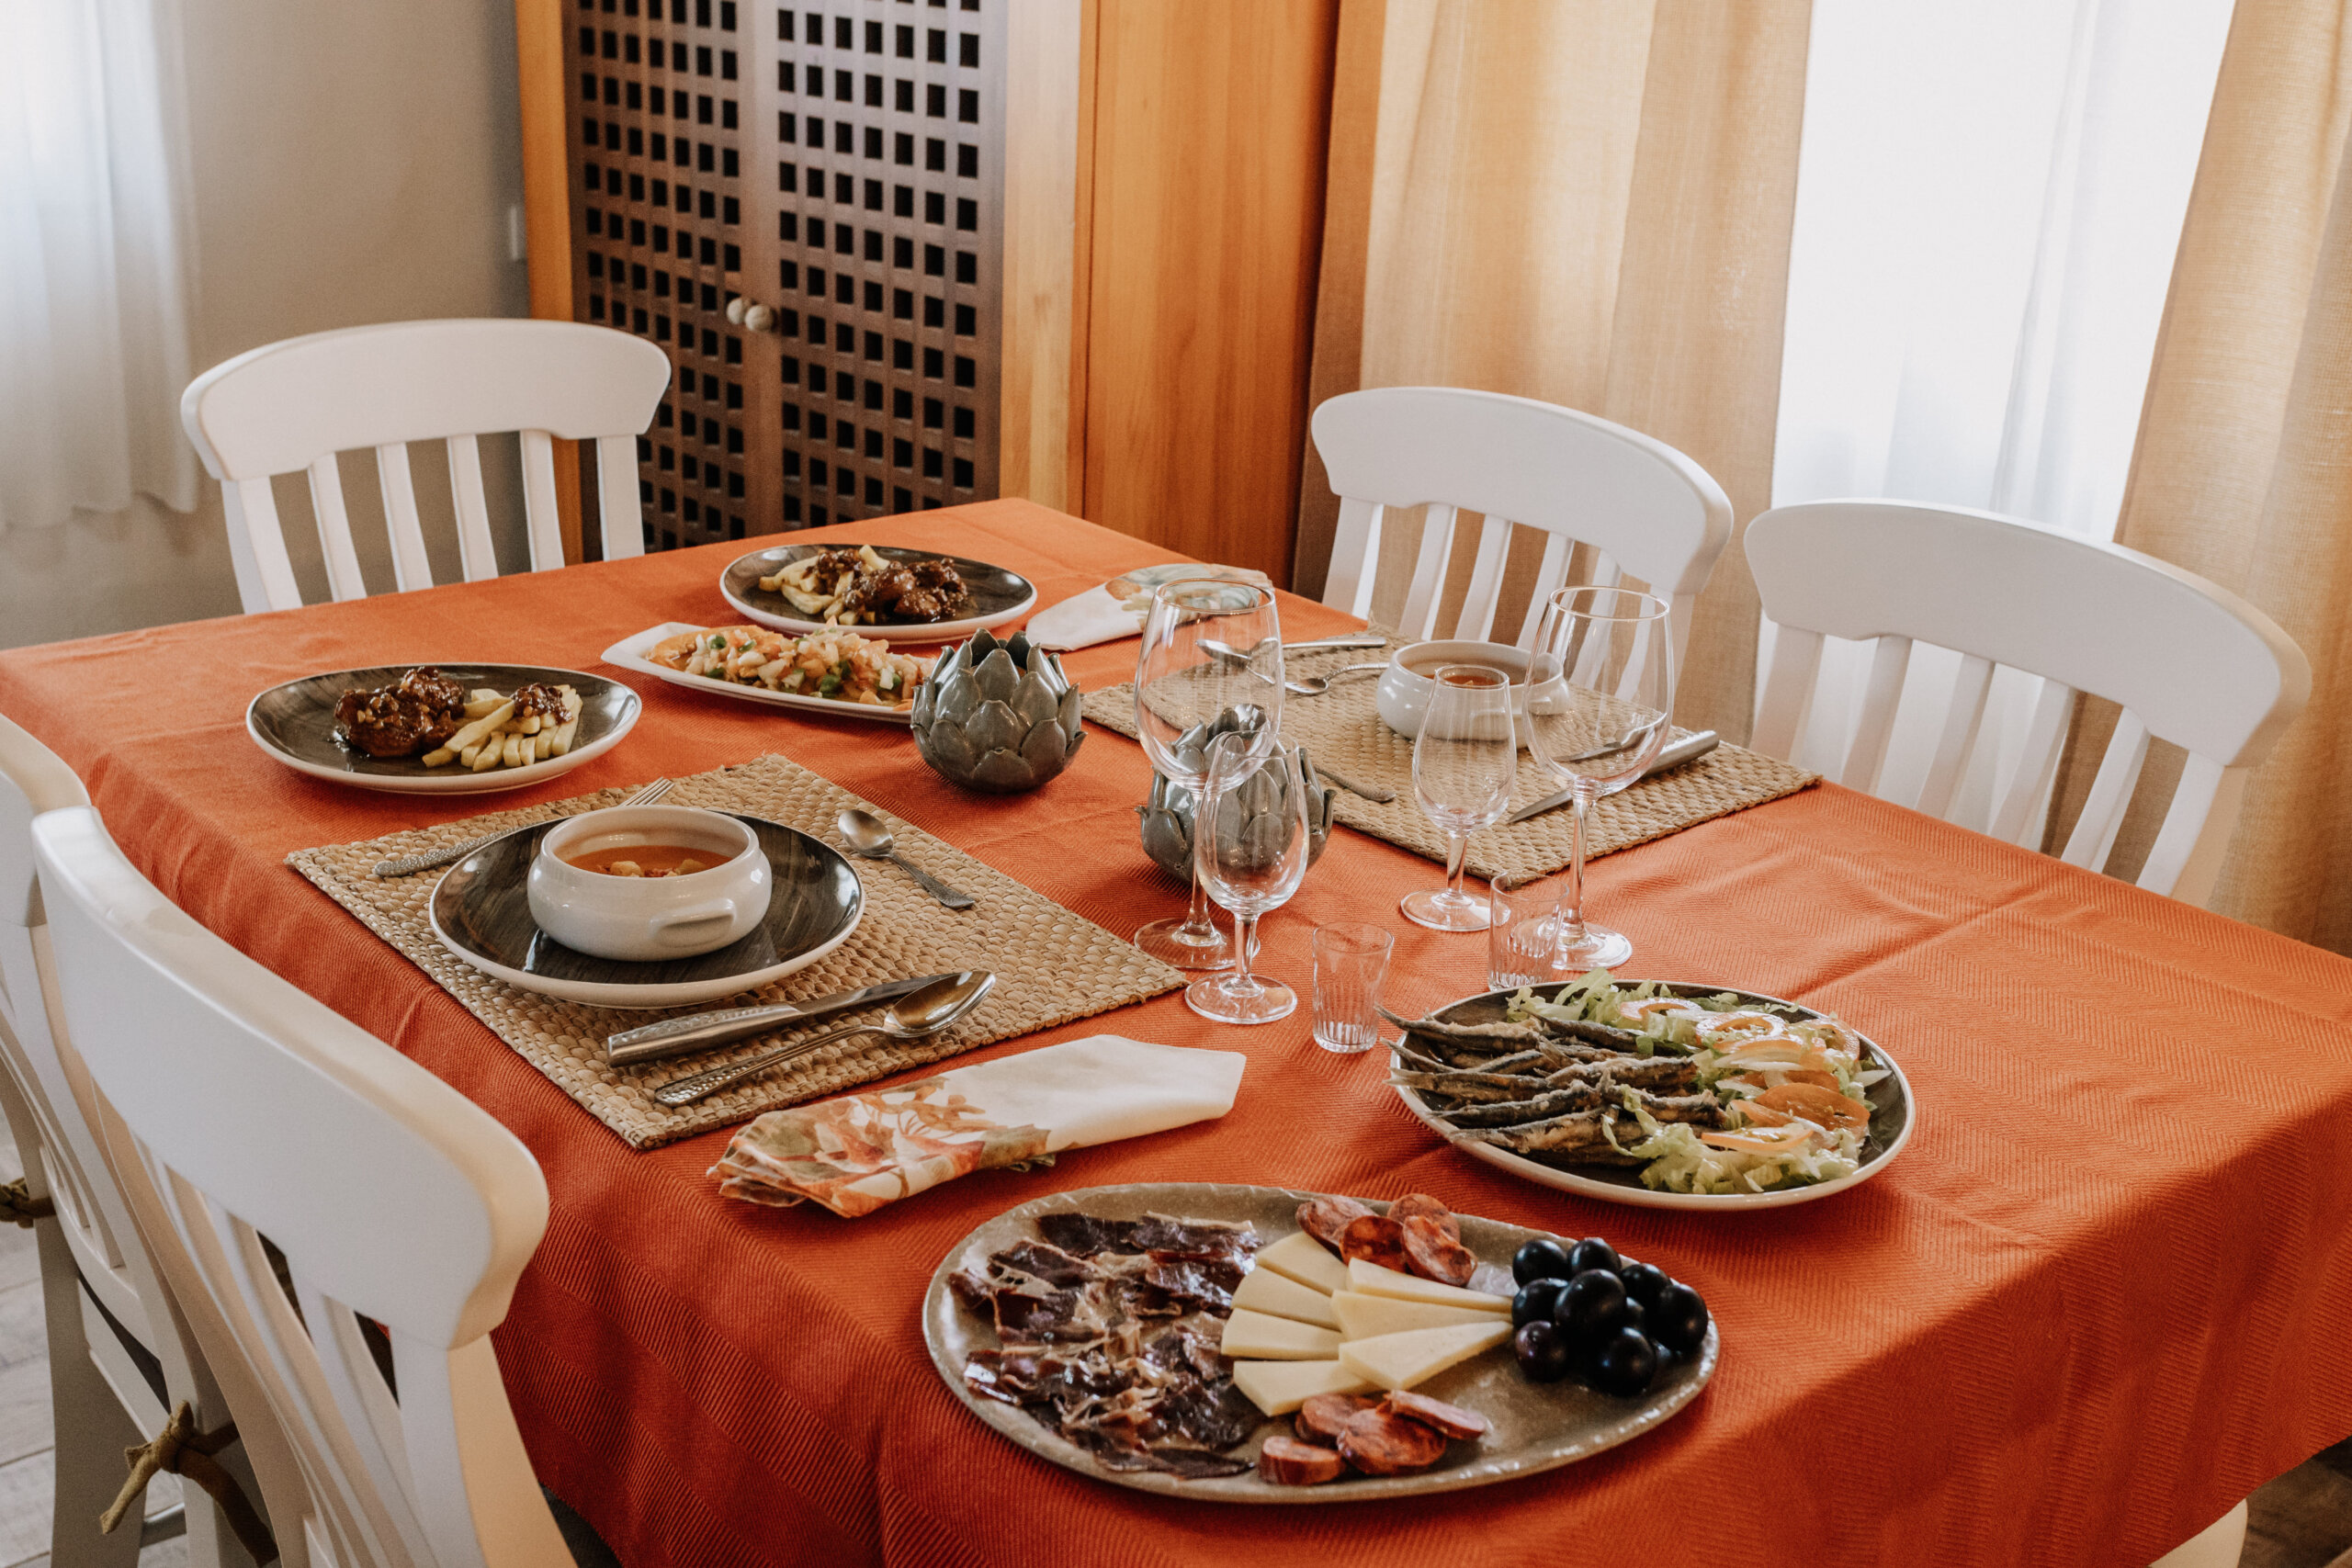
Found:
[[[0,0],[0,529],[195,505],[176,0]]]

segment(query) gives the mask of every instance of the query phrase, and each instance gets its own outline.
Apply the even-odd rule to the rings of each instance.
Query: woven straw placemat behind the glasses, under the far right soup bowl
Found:
[[[1390,637],[1388,651],[1404,646]],[[1289,672],[1322,675],[1350,663],[1371,663],[1383,654],[1369,649],[1331,654],[1291,654]],[[1308,748],[1310,762],[1329,764],[1348,778],[1395,792],[1395,802],[1381,806],[1350,790],[1331,790],[1331,816],[1376,839],[1388,839],[1444,865],[1446,835],[1414,804],[1414,743],[1381,722],[1376,708],[1376,675],[1350,675],[1322,696],[1282,698],[1282,738]],[[1136,736],[1136,686],[1134,682],[1105,686],[1087,693],[1084,715],[1127,738]],[[1675,731],[1684,733],[1684,731]],[[1698,762],[1689,762],[1656,778],[1646,778],[1630,790],[1611,795],[1592,806],[1585,858],[1632,849],[1663,839],[1670,832],[1696,827],[1698,823],[1769,799],[1795,795],[1820,783],[1820,773],[1750,752],[1743,745],[1717,745]],[[1512,785],[1510,806],[1517,811],[1531,799],[1557,790],[1548,773],[1519,757],[1519,783]],[[1545,811],[1512,827],[1489,827],[1470,835],[1465,863],[1475,877],[1498,872],[1557,872],[1566,867],[1573,849],[1573,813],[1562,806]]]

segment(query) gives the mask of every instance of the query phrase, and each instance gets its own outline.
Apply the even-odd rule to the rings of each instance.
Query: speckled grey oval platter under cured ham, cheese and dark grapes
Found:
[[[1051,1192],[1009,1208],[950,1246],[948,1255],[938,1260],[938,1269],[931,1272],[931,1288],[922,1298],[922,1338],[931,1349],[931,1366],[946,1380],[948,1389],[964,1401],[967,1410],[1042,1460],[1096,1481],[1160,1493],[1162,1497],[1268,1505],[1364,1502],[1369,1497],[1456,1493],[1573,1465],[1665,1422],[1691,1403],[1698,1389],[1715,1375],[1719,1340],[1712,1324],[1698,1356],[1665,1373],[1642,1399],[1611,1399],[1578,1382],[1529,1382],[1519,1375],[1508,1347],[1494,1349],[1439,1373],[1416,1389],[1484,1415],[1494,1422],[1494,1429],[1484,1439],[1449,1443],[1446,1458],[1437,1467],[1411,1476],[1350,1474],[1324,1486],[1275,1486],[1261,1481],[1256,1472],[1183,1479],[1164,1472],[1108,1469],[1077,1443],[1040,1425],[1028,1410],[983,1399],[964,1387],[964,1359],[976,1349],[995,1349],[997,1333],[993,1324],[967,1314],[955,1302],[948,1276],[967,1262],[983,1262],[995,1251],[1035,1239],[1033,1220],[1040,1213],[1082,1211],[1105,1220],[1134,1220],[1145,1213],[1183,1215],[1190,1220],[1249,1220],[1261,1237],[1261,1246],[1272,1246],[1298,1229],[1298,1204],[1310,1197],[1315,1194],[1287,1187],[1129,1182],[1120,1187]],[[1376,1211],[1388,1208],[1388,1204],[1371,1206]],[[1468,1213],[1456,1218],[1463,1227],[1463,1244],[1479,1258],[1479,1269],[1470,1284],[1482,1291],[1508,1293],[1510,1255],[1519,1251],[1522,1241],[1545,1232],[1482,1220]],[[1256,1460],[1258,1446],[1265,1439],[1289,1434],[1291,1420],[1275,1415],[1261,1420],[1258,1429],[1228,1453]]]

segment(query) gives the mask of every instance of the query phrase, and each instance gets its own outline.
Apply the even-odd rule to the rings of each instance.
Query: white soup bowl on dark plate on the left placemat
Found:
[[[614,877],[572,865],[630,844],[708,849],[684,877]],[[612,806],[567,818],[539,842],[527,884],[532,919],[564,947],[600,959],[689,959],[739,940],[774,889],[760,835],[694,806]]]

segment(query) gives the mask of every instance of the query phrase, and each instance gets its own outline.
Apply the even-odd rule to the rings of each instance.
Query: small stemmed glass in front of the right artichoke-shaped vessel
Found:
[[[1308,875],[1308,780],[1301,752],[1254,752],[1254,736],[1225,733],[1209,745],[1209,778],[1192,818],[1192,865],[1200,886],[1232,912],[1232,973],[1192,980],[1185,1006],[1218,1023],[1272,1023],[1298,1006],[1298,992],[1249,971],[1258,957],[1258,922],[1279,910]]]

